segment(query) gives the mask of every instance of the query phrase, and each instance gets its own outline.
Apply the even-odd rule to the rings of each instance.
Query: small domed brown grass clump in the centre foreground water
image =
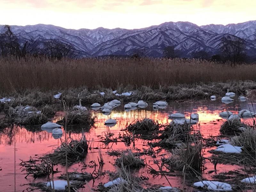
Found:
[[[145,166],[144,160],[140,159],[140,157],[136,156],[135,153],[132,153],[131,150],[123,151],[121,157],[116,159],[115,163],[118,167],[129,166],[133,168],[139,168]]]

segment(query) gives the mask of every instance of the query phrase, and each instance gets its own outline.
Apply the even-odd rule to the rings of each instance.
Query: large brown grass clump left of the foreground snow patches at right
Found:
[[[162,158],[162,164],[167,165],[170,170],[183,170],[186,165],[187,170],[201,171],[204,163],[202,154],[202,142],[195,142],[189,145],[179,145],[172,150],[172,156]]]

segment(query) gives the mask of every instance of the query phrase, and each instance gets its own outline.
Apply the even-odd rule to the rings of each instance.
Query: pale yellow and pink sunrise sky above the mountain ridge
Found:
[[[168,21],[197,25],[256,20],[255,0],[0,0],[0,25],[143,28]]]

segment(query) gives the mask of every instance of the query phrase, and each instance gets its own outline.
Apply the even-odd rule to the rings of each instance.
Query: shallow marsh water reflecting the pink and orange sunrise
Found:
[[[252,101],[254,110],[256,111],[256,103]],[[253,106],[250,100],[241,102],[239,100],[235,100],[232,103],[225,104],[220,100],[211,101],[211,100],[189,100],[185,102],[169,102],[168,107],[165,109],[158,109],[154,111],[152,108],[152,103],[149,103],[147,108],[138,108],[136,110],[132,110],[129,112],[124,111],[124,105],[120,105],[117,108],[114,108],[110,115],[106,116],[101,113],[100,110],[93,111],[95,115],[97,115],[97,122],[95,123],[95,128],[92,128],[90,132],[86,132],[88,127],[83,126],[75,126],[74,129],[68,132],[68,135],[73,139],[81,137],[82,130],[86,132],[87,140],[90,140],[93,148],[99,147],[101,148],[101,153],[104,158],[104,165],[99,170],[99,166],[96,166],[96,171],[115,171],[115,166],[113,166],[116,157],[109,156],[106,152],[111,151],[112,149],[127,149],[132,148],[133,143],[130,146],[125,146],[123,142],[117,143],[109,143],[105,145],[102,142],[99,142],[101,139],[98,136],[104,135],[104,132],[107,132],[108,129],[111,133],[114,133],[113,136],[118,137],[119,134],[123,134],[122,129],[132,123],[135,119],[142,118],[150,118],[153,120],[157,120],[161,124],[167,124],[171,120],[168,119],[168,115],[170,113],[181,112],[184,113],[186,117],[189,118],[190,113],[198,113],[199,114],[199,123],[193,125],[195,129],[200,129],[201,133],[204,137],[209,136],[217,136],[220,130],[220,124],[223,122],[223,119],[218,115],[221,111],[229,110],[231,112],[237,112],[241,109],[250,109],[253,111]],[[58,112],[54,117],[53,121],[57,121],[57,119],[61,118],[63,115],[62,112]],[[117,120],[117,124],[113,127],[107,127],[104,125],[104,122],[108,118],[114,118]],[[245,119],[247,122],[251,122],[252,119]],[[64,139],[64,134],[62,139]],[[138,149],[147,149],[147,140],[135,139],[134,145],[135,148]],[[26,127],[9,127],[5,128],[2,132],[0,132],[0,188],[1,191],[27,191],[27,188],[32,188],[28,183],[32,182],[40,182],[47,181],[45,178],[37,178],[33,181],[33,178],[28,176],[28,179],[25,179],[26,171],[22,172],[22,167],[20,166],[20,159],[23,161],[28,161],[29,157],[36,158],[38,156],[43,156],[43,154],[50,153],[55,149],[58,145],[60,145],[59,139],[54,139],[52,137],[52,133],[47,132],[47,130],[41,130],[40,126],[26,126]],[[14,150],[15,149],[15,150]],[[157,148],[155,148],[156,150]],[[205,157],[211,156],[207,151],[212,148],[207,148],[205,151]],[[158,159],[161,156],[168,155],[167,150],[162,150],[158,154]],[[91,161],[95,161],[98,164],[98,149],[92,149],[88,151],[87,156],[84,159],[84,163],[90,165]],[[151,156],[145,156],[147,164],[156,168],[156,164],[154,164],[154,159]],[[64,171],[65,167],[58,165],[54,166],[54,169],[58,167],[58,171]],[[208,173],[209,171],[214,170],[214,165],[206,161],[207,169],[204,171],[202,177],[204,179],[212,179],[212,175],[216,173]],[[86,172],[93,172],[94,168],[84,167],[83,163],[76,163],[69,167],[68,171],[77,170],[81,172],[81,169]],[[238,170],[240,167],[237,165],[224,165],[218,164],[217,173],[225,172],[230,170]],[[136,174],[137,176],[143,175],[148,177],[148,180],[145,180],[145,185],[147,183],[153,185],[164,185],[168,186],[168,182],[164,177],[153,176],[147,172],[148,167],[142,167],[139,170],[132,170],[131,172]],[[59,176],[60,173],[56,173],[54,176]],[[169,182],[172,184],[172,187],[182,188],[183,186],[183,177],[181,173],[173,173],[173,175],[167,176]],[[189,180],[198,181],[196,178],[189,178]],[[96,188],[99,183],[105,183],[108,181],[107,174],[105,176],[100,176],[93,183],[92,180],[85,185],[85,188],[80,188],[79,191],[91,191],[91,188]],[[191,187],[193,182],[189,183],[186,181],[186,191],[198,191],[198,189],[194,189]],[[38,189],[34,190],[38,191]]]

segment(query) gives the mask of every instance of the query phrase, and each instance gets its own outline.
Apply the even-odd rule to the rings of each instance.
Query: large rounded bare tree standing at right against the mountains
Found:
[[[221,39],[220,50],[227,60],[235,63],[245,60],[245,41],[239,37],[227,36]]]

